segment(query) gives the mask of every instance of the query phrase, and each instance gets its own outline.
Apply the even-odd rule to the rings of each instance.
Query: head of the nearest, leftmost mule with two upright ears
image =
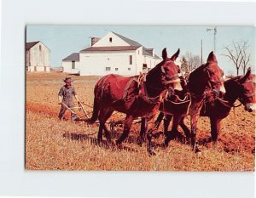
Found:
[[[171,58],[168,58],[166,48],[163,49],[163,62],[162,65],[160,65],[160,82],[165,88],[173,88],[175,90],[182,91],[183,88],[181,86],[181,81],[179,78],[181,76],[180,68],[174,62],[177,59],[178,54],[179,49],[177,49],[177,52],[173,54]]]

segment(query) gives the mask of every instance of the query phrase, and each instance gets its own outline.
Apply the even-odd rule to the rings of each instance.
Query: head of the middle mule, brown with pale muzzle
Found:
[[[208,86],[212,88],[215,93],[225,93],[224,88],[224,71],[218,67],[218,61],[216,56],[211,52],[207,59],[207,64],[205,67],[207,74]]]

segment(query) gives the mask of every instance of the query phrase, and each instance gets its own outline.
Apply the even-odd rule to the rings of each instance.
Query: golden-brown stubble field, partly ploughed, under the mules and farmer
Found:
[[[164,149],[156,147],[156,156],[148,156],[146,144],[137,145],[139,125],[131,129],[122,149],[115,144],[96,144],[97,124],[60,121],[57,93],[64,73],[26,74],[26,169],[30,170],[109,170],[109,171],[254,171],[255,115],[243,106],[231,110],[222,122],[218,144],[200,145],[195,154],[189,144],[172,140]],[[72,76],[79,99],[91,112],[93,88],[98,76]],[[87,106],[88,105],[88,106]],[[82,111],[78,111],[82,114]],[[67,119],[69,112],[67,112]],[[114,113],[110,120],[124,115]],[[189,119],[186,120],[189,124]],[[182,133],[181,128],[179,131]],[[122,133],[116,127],[113,142]],[[206,117],[198,123],[198,139],[210,136]],[[155,139],[163,143],[164,137]]]

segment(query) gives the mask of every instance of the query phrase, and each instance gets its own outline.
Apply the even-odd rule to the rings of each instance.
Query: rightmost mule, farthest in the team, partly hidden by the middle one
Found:
[[[254,75],[251,69],[247,70],[246,75],[236,76],[230,80],[224,82],[226,93],[223,98],[216,98],[214,103],[205,101],[204,108],[201,109],[200,116],[208,116],[211,123],[211,137],[204,139],[205,143],[213,141],[216,143],[218,140],[218,134],[220,133],[221,121],[229,116],[230,110],[235,106],[235,102],[238,99],[245,110],[253,112],[255,110],[255,81]],[[167,116],[168,119],[164,120],[164,131],[167,131],[172,116]],[[189,128],[184,124],[184,119],[179,123],[184,133],[189,132]]]

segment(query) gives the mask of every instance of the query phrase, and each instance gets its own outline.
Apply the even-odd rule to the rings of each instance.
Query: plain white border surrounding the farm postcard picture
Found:
[[[251,198],[254,173],[24,170],[27,24],[254,25],[255,3],[3,0],[0,196]]]

